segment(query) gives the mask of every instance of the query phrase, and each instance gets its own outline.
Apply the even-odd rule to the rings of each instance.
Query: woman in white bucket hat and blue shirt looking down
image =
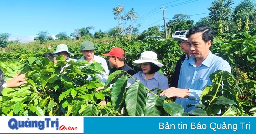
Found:
[[[133,64],[140,65],[142,69],[142,71],[134,74],[133,77],[144,84],[149,90],[154,88],[165,90],[169,88],[167,77],[158,72],[160,67],[164,65],[158,62],[157,54],[155,52],[145,51],[141,53],[140,58],[133,61]],[[128,81],[128,86],[134,82],[135,80],[130,78]],[[153,93],[157,94],[157,90],[154,90]],[[151,95],[153,94],[148,93],[148,96]]]

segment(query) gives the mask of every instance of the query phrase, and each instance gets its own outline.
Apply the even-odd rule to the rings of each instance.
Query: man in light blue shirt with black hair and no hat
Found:
[[[183,62],[178,88],[168,88],[160,96],[177,97],[175,103],[181,104],[184,111],[189,112],[196,106],[188,108],[187,105],[201,103],[202,90],[212,83],[209,78],[210,74],[217,70],[231,73],[231,67],[226,60],[211,53],[209,49],[213,42],[211,27],[204,25],[192,27],[186,37],[193,58]]]

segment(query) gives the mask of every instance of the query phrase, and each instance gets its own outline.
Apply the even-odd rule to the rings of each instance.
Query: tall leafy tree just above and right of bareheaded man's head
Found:
[[[231,17],[233,0],[214,0],[208,8],[209,17],[212,23],[216,24],[216,30],[219,34],[229,30],[228,22]]]

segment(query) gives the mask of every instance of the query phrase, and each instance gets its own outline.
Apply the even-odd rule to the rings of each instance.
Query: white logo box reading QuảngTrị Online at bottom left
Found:
[[[83,134],[84,116],[0,116],[0,134]]]

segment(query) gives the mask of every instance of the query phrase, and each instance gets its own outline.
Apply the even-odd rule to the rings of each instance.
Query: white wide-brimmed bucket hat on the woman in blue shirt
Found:
[[[151,62],[157,65],[158,67],[164,66],[162,63],[158,62],[157,54],[152,51],[145,51],[141,53],[141,56],[138,60],[133,61],[134,65],[140,65],[141,63]]]

